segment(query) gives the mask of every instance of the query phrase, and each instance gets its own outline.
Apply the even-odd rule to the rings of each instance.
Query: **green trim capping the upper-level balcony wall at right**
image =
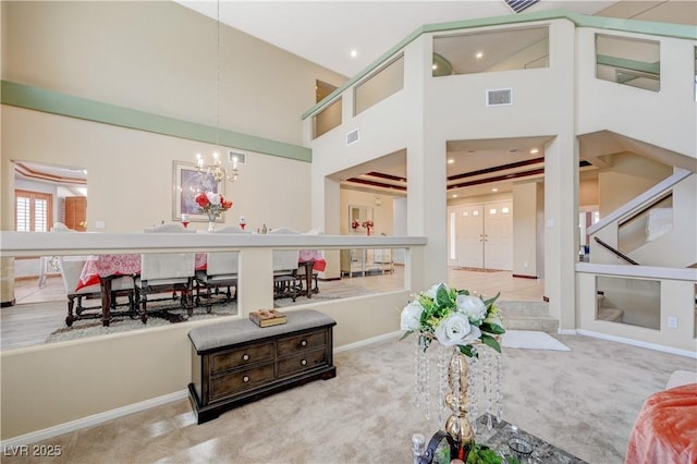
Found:
[[[452,32],[456,29],[467,29],[484,26],[503,26],[509,24],[529,23],[535,21],[552,21],[568,20],[576,27],[595,27],[607,30],[621,30],[636,34],[648,34],[660,37],[672,37],[687,40],[697,40],[697,28],[690,25],[672,24],[672,23],[655,23],[650,21],[625,20],[617,17],[587,16],[580,13],[574,13],[567,10],[552,10],[533,13],[521,13],[509,16],[478,17],[475,20],[455,21],[450,23],[426,24],[418,27],[412,34],[402,39],[394,47],[382,53],[380,58],[370,63],[366,69],[350,78],[344,85],[329,94],[322,101],[315,105],[303,113],[303,119],[316,114],[328,103],[330,103],[344,90],[352,87],[366,75],[372,73],[384,61],[401,51],[409,42],[420,37],[423,34]]]

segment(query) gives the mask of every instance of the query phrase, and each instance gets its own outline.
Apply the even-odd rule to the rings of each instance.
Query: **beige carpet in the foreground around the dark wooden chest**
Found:
[[[504,350],[504,419],[589,463],[622,464],[644,400],[695,359],[554,338],[571,351]],[[45,443],[65,463],[409,463],[412,434],[439,426],[413,405],[415,340],[340,353],[337,378],[203,425],[181,400]]]

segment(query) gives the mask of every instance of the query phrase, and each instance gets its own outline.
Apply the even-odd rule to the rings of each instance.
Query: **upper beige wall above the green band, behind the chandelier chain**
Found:
[[[345,76],[170,1],[2,2],[2,78],[302,144],[315,81]],[[225,2],[221,2],[224,10]],[[220,93],[218,93],[220,64]],[[219,95],[218,95],[219,94]]]

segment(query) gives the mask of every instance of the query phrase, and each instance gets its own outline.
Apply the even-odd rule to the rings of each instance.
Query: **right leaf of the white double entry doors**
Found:
[[[485,206],[484,267],[513,269],[513,212],[511,202]]]

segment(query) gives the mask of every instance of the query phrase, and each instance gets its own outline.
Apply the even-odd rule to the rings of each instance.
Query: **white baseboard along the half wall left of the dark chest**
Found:
[[[12,447],[36,443],[37,441],[47,440],[49,438],[53,438],[53,437],[58,437],[59,435],[80,430],[85,427],[91,427],[99,424],[103,424],[108,420],[123,417],[129,414],[138,413],[140,411],[149,410],[151,407],[160,406],[162,404],[183,400],[187,396],[188,396],[188,390],[180,390],[180,391],[175,391],[174,393],[152,398],[150,400],[142,401],[139,403],[117,407],[115,410],[107,411],[99,414],[94,414],[91,416],[82,417],[80,419],[71,420],[65,424],[60,424],[53,427],[45,428],[42,430],[37,430],[26,435],[21,435],[19,437],[10,438],[8,440],[3,440],[0,442],[0,449],[4,450]]]

